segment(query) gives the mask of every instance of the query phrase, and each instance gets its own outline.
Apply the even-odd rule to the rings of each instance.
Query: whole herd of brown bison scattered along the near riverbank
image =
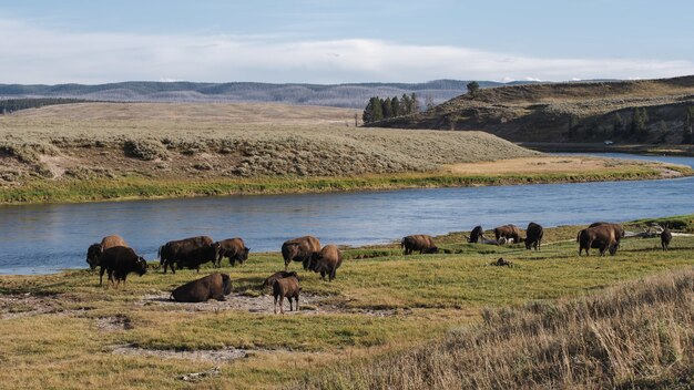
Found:
[[[516,225],[503,225],[493,229],[494,239],[484,237],[481,226],[476,226],[470,233],[468,243],[482,243],[503,245],[507,243],[524,243],[525,249],[540,250],[542,244],[542,226],[531,222],[525,229],[525,237]],[[590,249],[598,249],[600,256],[608,252],[614,255],[620,247],[620,240],[624,238],[624,228],[619,224],[596,222],[582,229],[576,235],[579,243],[579,256]],[[661,233],[661,245],[663,250],[667,250],[672,233],[667,227]],[[400,242],[400,248],[405,255],[415,252],[419,254],[436,254],[439,248],[435,245],[431,236],[411,235],[406,236]],[[175,274],[176,269],[188,268],[200,273],[200,266],[212,263],[214,267],[221,267],[222,260],[226,257],[231,266],[236,263],[244,264],[248,259],[248,252],[242,238],[228,238],[214,242],[208,236],[197,236],[184,239],[171,240],[159,248],[160,266],[164,274],[171,269]],[[288,271],[292,261],[300,261],[305,270],[320,274],[320,278],[333,281],[336,277],[337,268],[343,263],[343,255],[335,245],[320,246],[318,238],[314,236],[303,236],[286,240],[282,245],[282,256],[284,258],[285,270],[271,275],[263,283],[263,288],[271,288],[274,296],[274,311],[284,314],[284,299],[289,300],[289,310],[299,307],[299,277],[296,271]],[[125,240],[112,235],[104,237],[101,243],[92,244],[86,250],[86,263],[93,270],[100,267],[99,285],[103,285],[103,274],[106,273],[109,281],[116,287],[129,274],[135,273],[144,275],[147,264],[141,256],[127,246]],[[232,292],[232,280],[228,275],[213,273],[203,278],[192,280],[175,288],[171,292],[171,298],[180,302],[201,302],[208,299],[225,300],[225,296]],[[294,305],[293,305],[294,299]]]

